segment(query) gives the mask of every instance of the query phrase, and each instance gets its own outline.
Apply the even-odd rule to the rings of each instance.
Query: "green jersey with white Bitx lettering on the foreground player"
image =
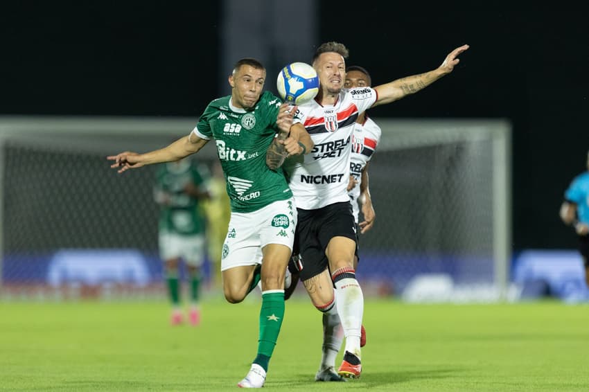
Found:
[[[231,211],[249,213],[292,197],[284,172],[270,170],[266,151],[276,136],[276,117],[282,101],[262,94],[254,110],[231,105],[231,96],[209,103],[193,130],[202,139],[215,139]]]

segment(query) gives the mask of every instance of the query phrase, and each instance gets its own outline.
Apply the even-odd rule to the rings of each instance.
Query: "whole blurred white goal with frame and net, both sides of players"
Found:
[[[502,296],[511,256],[509,124],[376,122],[383,136],[369,178],[377,219],[360,236],[357,272],[364,292]],[[161,289],[155,167],[118,175],[105,157],[160,148],[194,125],[192,118],[0,118],[3,294]],[[216,160],[213,143],[195,159]]]

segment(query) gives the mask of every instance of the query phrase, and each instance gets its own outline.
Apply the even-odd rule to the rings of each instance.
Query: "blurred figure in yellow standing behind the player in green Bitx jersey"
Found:
[[[219,161],[214,161],[211,166],[211,177],[209,177],[206,188],[211,197],[202,201],[204,215],[206,215],[206,249],[209,260],[215,266],[213,271],[213,283],[216,289],[221,287],[221,251],[227,226],[231,217],[231,206],[229,195],[227,195],[227,181],[223,176],[223,168]]]

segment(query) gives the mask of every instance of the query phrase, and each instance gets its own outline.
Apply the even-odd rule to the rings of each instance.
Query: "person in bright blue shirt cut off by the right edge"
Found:
[[[561,206],[561,219],[574,227],[579,237],[579,252],[585,265],[585,282],[589,286],[589,152],[588,171],[574,177],[565,190],[565,201]]]

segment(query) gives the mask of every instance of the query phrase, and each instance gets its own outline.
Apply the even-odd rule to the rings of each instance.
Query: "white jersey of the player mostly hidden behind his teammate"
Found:
[[[376,146],[380,142],[380,127],[368,116],[364,123],[356,123],[352,134],[352,152],[350,156],[350,174],[357,181],[349,190],[350,202],[356,223],[358,223],[358,197],[360,197],[360,184],[362,184],[362,170],[372,158]]]

